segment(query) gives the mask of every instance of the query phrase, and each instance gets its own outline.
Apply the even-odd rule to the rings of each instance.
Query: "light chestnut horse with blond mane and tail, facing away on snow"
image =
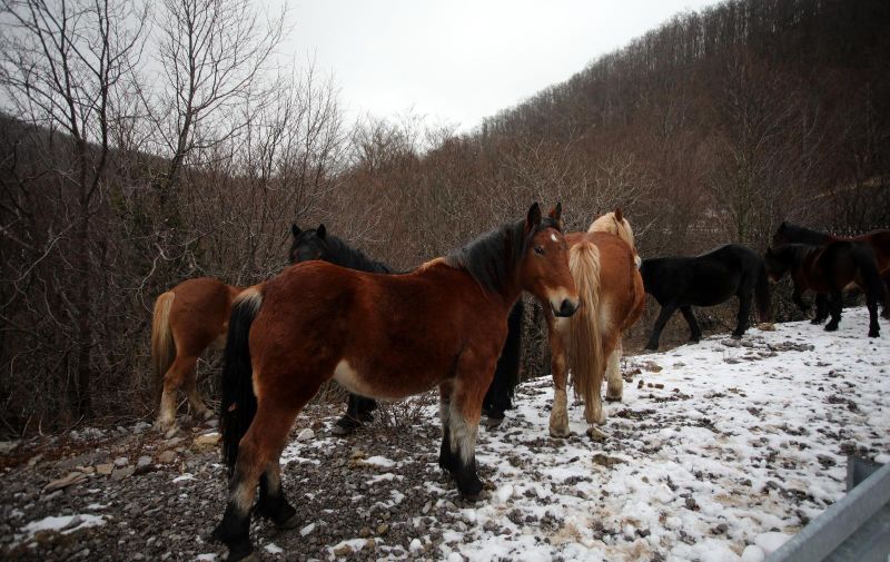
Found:
[[[566,235],[565,241],[581,307],[571,318],[546,314],[555,387],[550,433],[555,437],[568,435],[566,369],[572,372],[575,393],[584,400],[589,432],[594,423],[605,423],[601,393],[606,363],[607,395],[621,400],[621,334],[640,318],[645,305],[633,231],[621,210],[601,217],[586,233]]]

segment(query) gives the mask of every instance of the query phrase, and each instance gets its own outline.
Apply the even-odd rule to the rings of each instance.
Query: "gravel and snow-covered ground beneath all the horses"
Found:
[[[578,404],[573,435],[551,438],[551,383],[525,383],[481,431],[476,503],[436,464],[432,400],[345,438],[329,432],[339,408],[312,408],[283,460],[303,523],[255,522],[255,544],[270,561],[762,560],[843,495],[847,455],[890,460],[890,326],[869,339],[866,321],[629,357],[601,441]],[[208,542],[226,489],[212,422],[184,427],[2,444],[0,559],[224,560]]]

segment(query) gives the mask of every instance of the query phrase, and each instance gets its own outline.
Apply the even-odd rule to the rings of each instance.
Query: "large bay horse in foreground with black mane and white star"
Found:
[[[243,292],[233,306],[221,375],[222,452],[229,499],[214,538],[229,560],[251,555],[251,507],[279,528],[297,524],[279,457],[298,413],[335,378],[363,396],[399,400],[438,385],[439,466],[464,496],[483,485],[475,442],[482,400],[523,290],[571,316],[578,295],[558,205],[537,204],[455,253],[405,275],[306,262]]]

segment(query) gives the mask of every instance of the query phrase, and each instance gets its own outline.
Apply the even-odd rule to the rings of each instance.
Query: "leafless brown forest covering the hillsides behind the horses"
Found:
[[[283,21],[249,0],[3,0],[0,434],[150,415],[155,297],[274,276],[294,223],[396,269],[534,200],[570,230],[621,207],[643,257],[762,252],[785,219],[889,226],[886,0],[681,13],[461,135],[347,122],[330,79],[276,62]],[[530,319],[526,377],[546,374]]]

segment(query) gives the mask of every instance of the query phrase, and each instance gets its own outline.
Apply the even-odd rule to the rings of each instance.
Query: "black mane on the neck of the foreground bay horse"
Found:
[[[525,254],[528,240],[545,228],[562,231],[558,223],[550,217],[543,217],[528,236],[525,236],[525,220],[508,223],[452,252],[445,257],[445,263],[465,269],[487,290],[500,293]]]

